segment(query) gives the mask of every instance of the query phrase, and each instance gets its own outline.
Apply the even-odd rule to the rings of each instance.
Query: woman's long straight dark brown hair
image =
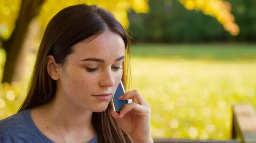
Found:
[[[73,51],[72,46],[105,30],[119,34],[125,43],[126,58],[124,60],[123,78],[127,87],[130,38],[121,24],[109,12],[96,5],[78,4],[59,11],[48,23],[40,44],[28,95],[18,112],[42,106],[50,102],[56,92],[56,81],[46,71],[47,56],[52,55],[57,64],[63,64]],[[99,143],[131,143],[131,139],[116,124],[108,108],[100,113],[92,114],[92,124]]]

